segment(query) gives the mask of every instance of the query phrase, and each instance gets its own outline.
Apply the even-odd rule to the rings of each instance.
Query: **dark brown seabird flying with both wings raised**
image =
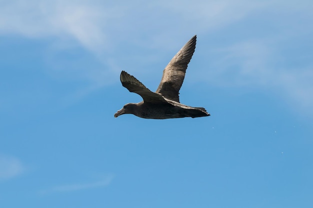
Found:
[[[150,91],[126,71],[121,71],[121,84],[130,92],[139,94],[143,101],[125,104],[114,114],[114,117],[121,114],[134,114],[138,117],[151,119],[209,116],[210,114],[203,107],[191,107],[179,102],[179,89],[194,52],[195,42],[196,35],[182,46],[169,61],[163,70],[161,82],[155,92]]]

